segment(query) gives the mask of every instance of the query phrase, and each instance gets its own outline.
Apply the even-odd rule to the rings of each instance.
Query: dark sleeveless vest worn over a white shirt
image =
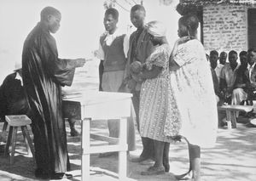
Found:
[[[124,71],[125,70],[125,53],[124,38],[125,35],[116,37],[110,46],[104,41],[106,35],[100,38],[100,42],[105,54],[104,71]]]

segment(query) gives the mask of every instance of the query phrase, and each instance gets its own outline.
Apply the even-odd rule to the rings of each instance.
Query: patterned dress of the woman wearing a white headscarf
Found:
[[[155,48],[149,59],[146,60],[146,65],[148,70],[152,68],[152,65],[160,66],[162,71],[156,78],[143,82],[140,94],[141,136],[163,142],[172,141],[164,135],[170,54],[171,49],[168,44]]]

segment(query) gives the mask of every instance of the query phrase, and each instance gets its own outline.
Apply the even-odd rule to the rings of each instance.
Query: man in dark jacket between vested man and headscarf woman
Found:
[[[150,36],[144,26],[146,10],[142,5],[135,5],[131,8],[131,23],[137,28],[130,37],[128,59],[126,66],[125,83],[133,94],[132,103],[136,113],[137,128],[139,129],[139,105],[140,105],[140,90],[137,90],[137,82],[131,77],[130,65],[134,61],[139,61],[142,64],[150,56],[153,51],[153,44],[150,42]],[[131,161],[141,162],[148,159],[154,159],[154,142],[152,139],[142,138],[143,152],[142,154]]]

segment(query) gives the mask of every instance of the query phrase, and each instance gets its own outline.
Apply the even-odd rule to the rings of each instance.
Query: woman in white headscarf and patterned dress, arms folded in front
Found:
[[[167,76],[171,48],[166,41],[166,27],[159,21],[147,25],[154,52],[146,59],[138,78],[143,80],[140,94],[140,133],[154,140],[155,162],[143,175],[169,172],[169,146],[172,139],[164,135],[167,109]]]

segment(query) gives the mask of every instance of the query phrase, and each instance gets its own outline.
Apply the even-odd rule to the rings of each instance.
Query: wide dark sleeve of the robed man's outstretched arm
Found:
[[[59,59],[54,37],[46,36],[41,39],[40,51],[45,60],[44,70],[48,71],[56,83],[61,86],[71,86],[77,61],[73,59]]]

